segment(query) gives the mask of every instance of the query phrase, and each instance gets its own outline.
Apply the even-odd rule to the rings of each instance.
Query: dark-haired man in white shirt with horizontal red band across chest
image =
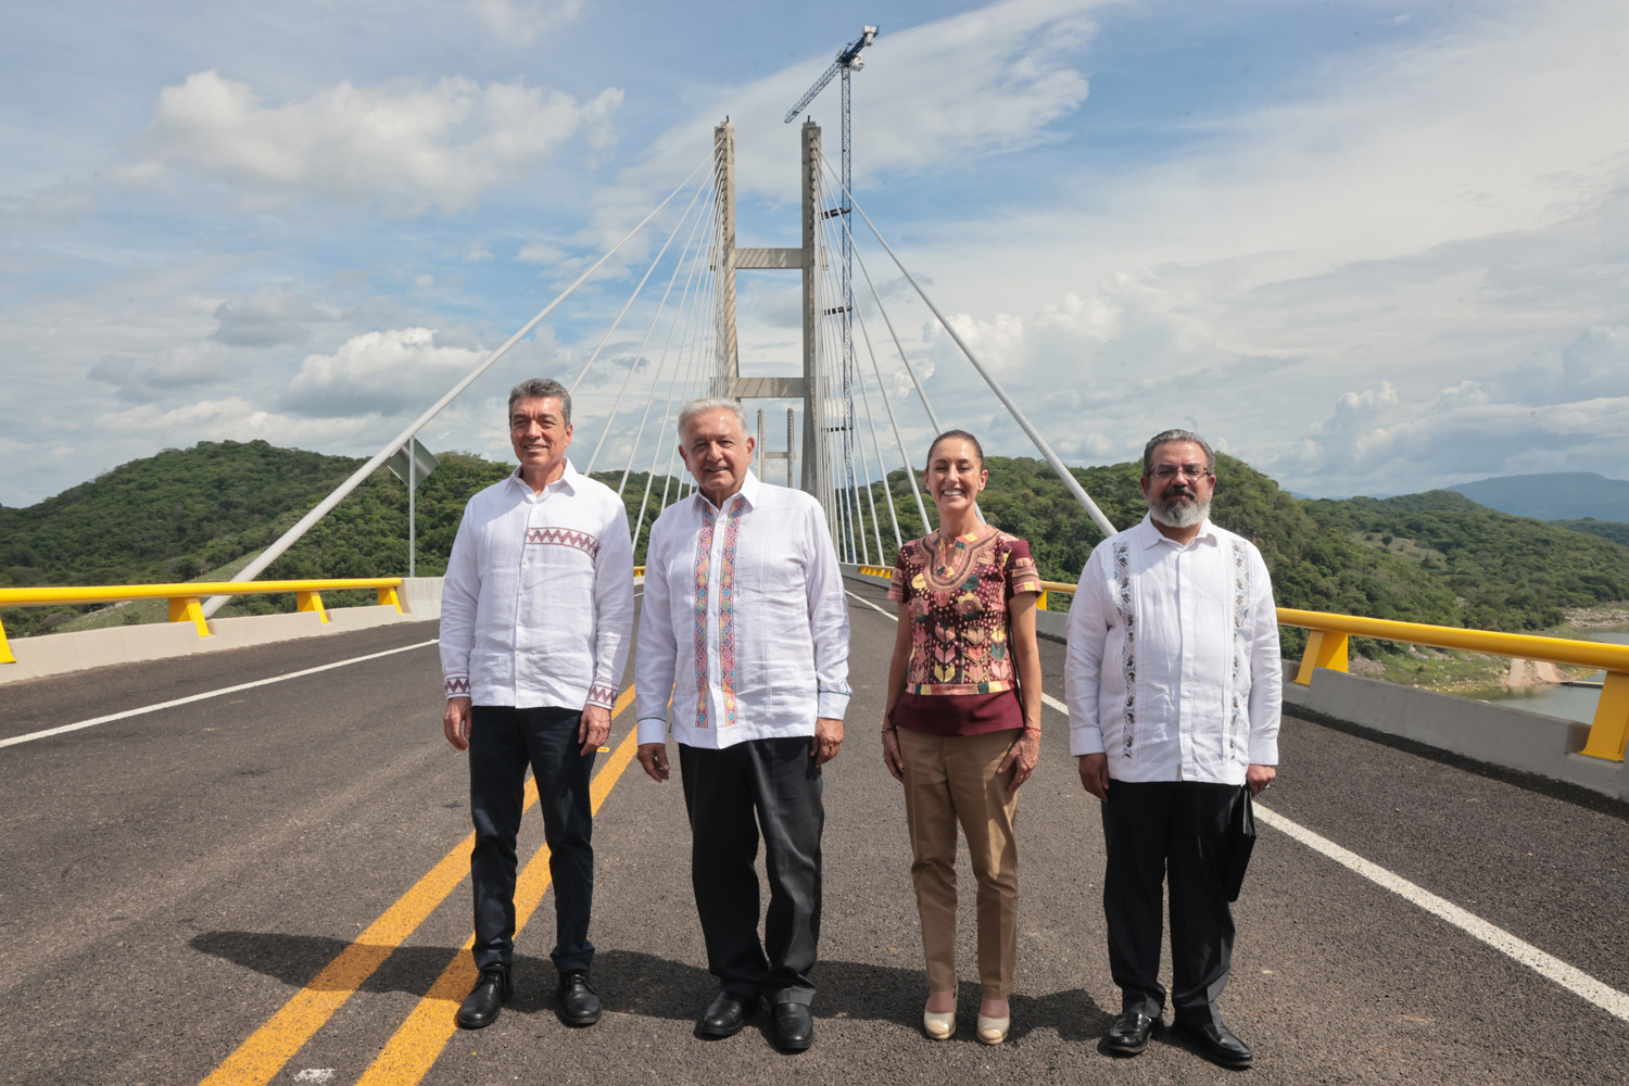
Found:
[[[472,497],[441,586],[446,741],[469,751],[479,979],[458,1024],[481,1029],[512,992],[515,835],[526,765],[538,783],[554,884],[555,1013],[599,1021],[588,983],[595,889],[588,773],[611,733],[634,625],[634,549],[622,500],[565,459],[572,396],[534,378],[510,392],[520,467]]]

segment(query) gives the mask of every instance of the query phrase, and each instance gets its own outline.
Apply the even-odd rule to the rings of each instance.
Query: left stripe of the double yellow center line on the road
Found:
[[[617,697],[611,710],[611,718],[616,720],[632,700],[634,687],[629,687]],[[601,770],[603,775],[604,770]],[[595,796],[599,795],[598,786],[599,780],[596,777]],[[534,803],[538,803],[538,783],[528,780],[523,811],[529,809]],[[599,809],[598,799],[595,801],[595,809]],[[474,843],[476,835],[471,832],[450,853],[441,856],[440,863],[414,882],[406,894],[397,897],[396,904],[368,925],[357,936],[355,943],[342,949],[282,1009],[249,1034],[238,1045],[238,1050],[226,1057],[200,1086],[264,1086],[272,1081],[283,1070],[283,1065],[300,1052],[305,1042],[316,1031],[323,1029],[327,1019],[344,1006],[345,1000],[384,964],[384,959],[401,946],[402,939],[412,935],[435,912],[437,905],[453,892],[453,887],[464,881],[464,876],[469,874],[469,850],[474,848]],[[474,944],[474,936],[471,936],[469,944]]]

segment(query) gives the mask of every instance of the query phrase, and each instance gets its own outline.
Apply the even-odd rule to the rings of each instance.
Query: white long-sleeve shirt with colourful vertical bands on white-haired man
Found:
[[[639,741],[692,747],[813,736],[849,707],[849,604],[814,498],[748,472],[722,510],[697,492],[650,528],[634,668]]]

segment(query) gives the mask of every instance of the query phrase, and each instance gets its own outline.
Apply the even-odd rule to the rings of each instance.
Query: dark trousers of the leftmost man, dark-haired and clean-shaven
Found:
[[[577,731],[582,710],[476,705],[469,725],[469,814],[476,847],[469,878],[476,887],[476,969],[510,966],[515,956],[515,835],[526,795],[526,767],[538,782],[542,839],[554,889],[555,969],[588,969],[588,913],[595,899],[593,808]]]

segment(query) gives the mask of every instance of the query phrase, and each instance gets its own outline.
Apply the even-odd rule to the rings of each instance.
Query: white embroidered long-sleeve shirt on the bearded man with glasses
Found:
[[[1104,539],[1069,606],[1070,754],[1106,751],[1126,782],[1277,765],[1277,622],[1261,552],[1209,519],[1186,547],[1147,516]]]

